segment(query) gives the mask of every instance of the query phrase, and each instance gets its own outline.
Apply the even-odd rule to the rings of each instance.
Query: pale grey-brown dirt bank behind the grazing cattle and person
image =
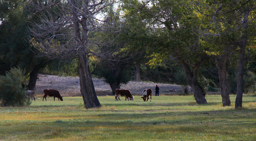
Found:
[[[110,86],[103,79],[92,79],[97,96],[112,95]],[[175,95],[175,93],[183,93],[180,85],[159,84],[150,82],[134,82],[122,85],[121,89],[128,89],[132,95],[140,95],[144,89],[152,89],[153,95],[155,86],[160,88],[160,95]],[[42,94],[44,89],[56,89],[63,96],[81,96],[79,77],[59,77],[54,75],[39,74],[36,81],[36,94]],[[191,92],[191,88],[189,88]]]

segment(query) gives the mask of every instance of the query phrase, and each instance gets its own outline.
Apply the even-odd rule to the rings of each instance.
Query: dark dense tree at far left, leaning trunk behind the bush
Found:
[[[24,1],[1,1],[0,14],[0,74],[5,74],[12,67],[19,66],[25,70],[24,75],[29,75],[28,90],[35,90],[39,70],[48,61],[44,58],[35,58],[29,48],[29,21],[28,11],[22,5]],[[25,5],[26,6],[26,5]]]

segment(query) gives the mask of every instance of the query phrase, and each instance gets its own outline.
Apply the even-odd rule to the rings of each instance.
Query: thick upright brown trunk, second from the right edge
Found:
[[[230,98],[229,98],[229,85],[227,81],[227,70],[226,70],[226,62],[228,56],[222,56],[221,58],[215,59],[215,64],[219,71],[219,80],[220,80],[220,90],[221,90],[221,97],[222,97],[222,105],[230,106]]]

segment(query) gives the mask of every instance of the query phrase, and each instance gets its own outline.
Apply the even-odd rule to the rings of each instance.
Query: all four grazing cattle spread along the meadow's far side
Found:
[[[120,100],[120,96],[124,96],[125,97],[125,101],[126,99],[132,100],[134,101],[134,98],[132,96],[132,93],[129,90],[126,89],[116,89],[116,96],[115,99],[118,101],[118,99]],[[45,99],[46,101],[46,97],[47,96],[53,96],[53,99],[55,101],[55,97],[58,98],[59,101],[63,101],[62,96],[60,96],[59,91],[57,90],[52,90],[52,89],[44,89],[44,97],[43,97],[43,101]],[[150,96],[150,102],[152,100],[152,90],[151,89],[145,89],[142,91],[142,99],[144,101],[146,101],[146,99],[149,99]],[[35,91],[26,91],[26,98],[31,98],[31,101],[33,101],[33,99],[36,101],[35,99]],[[147,101],[148,101],[147,99]]]

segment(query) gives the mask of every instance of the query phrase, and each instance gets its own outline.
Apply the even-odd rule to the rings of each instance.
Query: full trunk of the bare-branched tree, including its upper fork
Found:
[[[94,85],[92,82],[91,71],[89,67],[89,56],[88,56],[88,37],[87,37],[87,17],[83,16],[81,19],[82,23],[82,38],[80,33],[80,26],[79,26],[79,19],[76,17],[77,9],[76,6],[78,5],[75,0],[71,0],[72,6],[72,13],[73,15],[73,27],[75,33],[75,40],[79,45],[79,49],[77,50],[78,54],[78,68],[79,68],[79,79],[80,79],[80,92],[82,94],[84,100],[85,108],[98,108],[101,107],[100,101],[97,98]],[[88,11],[88,2],[85,3],[83,11],[87,13]],[[85,14],[86,15],[86,14]]]

